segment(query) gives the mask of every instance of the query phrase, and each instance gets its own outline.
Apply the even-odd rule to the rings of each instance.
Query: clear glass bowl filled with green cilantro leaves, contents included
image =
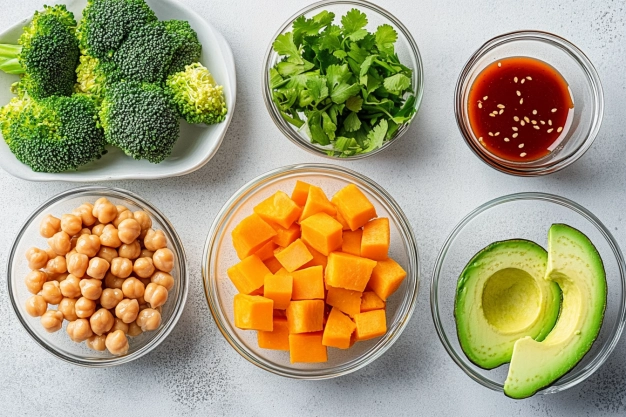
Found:
[[[394,143],[422,100],[419,50],[406,27],[365,1],[322,1],[273,37],[263,96],[292,142],[318,155],[358,159]]]

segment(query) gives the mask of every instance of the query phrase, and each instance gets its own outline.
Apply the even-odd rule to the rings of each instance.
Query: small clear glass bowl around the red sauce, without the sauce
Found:
[[[574,101],[572,124],[559,145],[543,158],[522,162],[489,152],[474,135],[467,110],[472,84],[482,70],[494,61],[516,56],[539,59],[558,70]],[[519,176],[551,174],[574,163],[595,140],[604,112],[602,85],[589,58],[566,39],[539,31],[511,32],[487,41],[465,64],[454,94],[456,122],[470,149],[492,168]]]

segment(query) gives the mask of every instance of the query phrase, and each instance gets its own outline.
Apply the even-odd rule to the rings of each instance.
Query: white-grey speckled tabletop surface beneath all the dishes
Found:
[[[429,279],[446,235],[491,198],[547,191],[593,211],[626,247],[626,9],[613,1],[379,0],[412,31],[425,62],[426,92],[409,133],[386,152],[350,168],[386,187],[419,240],[422,292],[411,323],[386,355],[330,381],[287,380],[257,369],[224,341],[202,292],[200,256],[221,205],[248,180],[297,162],[326,162],[287,141],[261,97],[263,53],[276,28],[308,0],[185,0],[224,34],[237,62],[237,111],[222,147],[203,169],[181,178],[109,185],[141,194],[177,227],[190,261],[187,307],[155,352],[114,369],[66,365],[39,348],[10,310],[0,285],[0,415],[476,415],[626,414],[626,346],[587,382],[558,395],[513,401],[472,382],[445,353],[429,307]],[[3,2],[0,28],[41,5]],[[9,6],[9,3],[11,6]],[[513,178],[488,168],[463,143],[452,95],[469,54],[488,38],[516,29],[562,35],[585,51],[605,87],[600,136],[572,167],[546,178]],[[0,163],[1,164],[1,163]],[[37,184],[0,172],[0,270],[20,224],[67,183]],[[512,219],[514,221],[514,219]],[[623,342],[623,341],[622,341]]]

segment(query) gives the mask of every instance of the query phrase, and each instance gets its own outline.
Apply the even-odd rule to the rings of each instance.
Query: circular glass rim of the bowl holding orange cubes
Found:
[[[351,360],[348,362],[349,365],[338,365],[333,368],[317,370],[317,369],[288,369],[284,366],[273,366],[270,361],[258,358],[253,352],[248,352],[247,349],[242,347],[239,343],[239,338],[233,334],[231,334],[226,326],[222,323],[221,313],[219,303],[216,301],[216,293],[214,283],[217,281],[217,278],[213,276],[213,268],[212,268],[212,257],[214,255],[215,250],[218,247],[217,240],[219,237],[219,231],[221,225],[227,217],[232,209],[238,205],[241,201],[245,200],[250,192],[258,191],[260,186],[272,181],[274,179],[281,178],[285,175],[294,174],[294,173],[330,173],[330,174],[339,174],[341,176],[347,178],[355,178],[358,181],[362,181],[367,185],[371,190],[373,190],[376,194],[378,194],[378,198],[384,200],[386,204],[389,205],[390,209],[395,211],[394,216],[397,217],[399,229],[401,229],[401,233],[404,238],[404,246],[407,251],[408,258],[408,267],[407,267],[407,276],[410,273],[414,278],[415,285],[414,287],[408,287],[407,291],[409,291],[408,296],[405,296],[403,302],[398,307],[399,309],[404,308],[403,316],[398,320],[398,324],[392,329],[388,328],[387,334],[383,336],[379,342],[370,348],[369,351],[366,352],[365,355],[360,357],[358,360]],[[370,192],[371,192],[370,190]],[[419,261],[417,241],[415,239],[415,235],[413,232],[413,228],[408,218],[398,205],[398,203],[385,191],[380,185],[378,185],[373,180],[367,178],[364,175],[361,175],[355,171],[352,171],[347,168],[343,168],[336,165],[330,164],[296,164],[296,165],[287,165],[281,168],[276,168],[271,171],[268,171],[264,174],[259,175],[258,177],[248,181],[245,185],[243,185],[239,190],[237,190],[232,197],[228,199],[228,201],[222,206],[219,213],[215,216],[215,220],[213,221],[211,228],[209,229],[209,233],[207,235],[207,240],[203,250],[203,258],[202,258],[202,283],[204,286],[204,293],[206,296],[207,304],[209,305],[209,310],[211,311],[211,315],[217,325],[218,329],[224,336],[224,339],[235,349],[241,356],[243,356],[246,360],[251,362],[252,364],[258,366],[261,369],[264,369],[270,373],[275,375],[280,375],[283,377],[294,378],[294,379],[307,379],[307,380],[322,380],[335,378],[342,375],[347,375],[354,371],[357,371],[364,366],[370,364],[374,360],[378,359],[381,355],[383,355],[387,349],[389,349],[400,337],[404,329],[406,328],[413,312],[415,310],[417,304],[417,297],[419,294],[419,285],[420,285],[420,267],[421,263]]]

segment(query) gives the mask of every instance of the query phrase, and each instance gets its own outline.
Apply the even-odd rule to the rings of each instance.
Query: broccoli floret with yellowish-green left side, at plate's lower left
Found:
[[[0,110],[0,129],[16,158],[37,172],[63,172],[100,158],[104,132],[90,98],[14,97]]]

